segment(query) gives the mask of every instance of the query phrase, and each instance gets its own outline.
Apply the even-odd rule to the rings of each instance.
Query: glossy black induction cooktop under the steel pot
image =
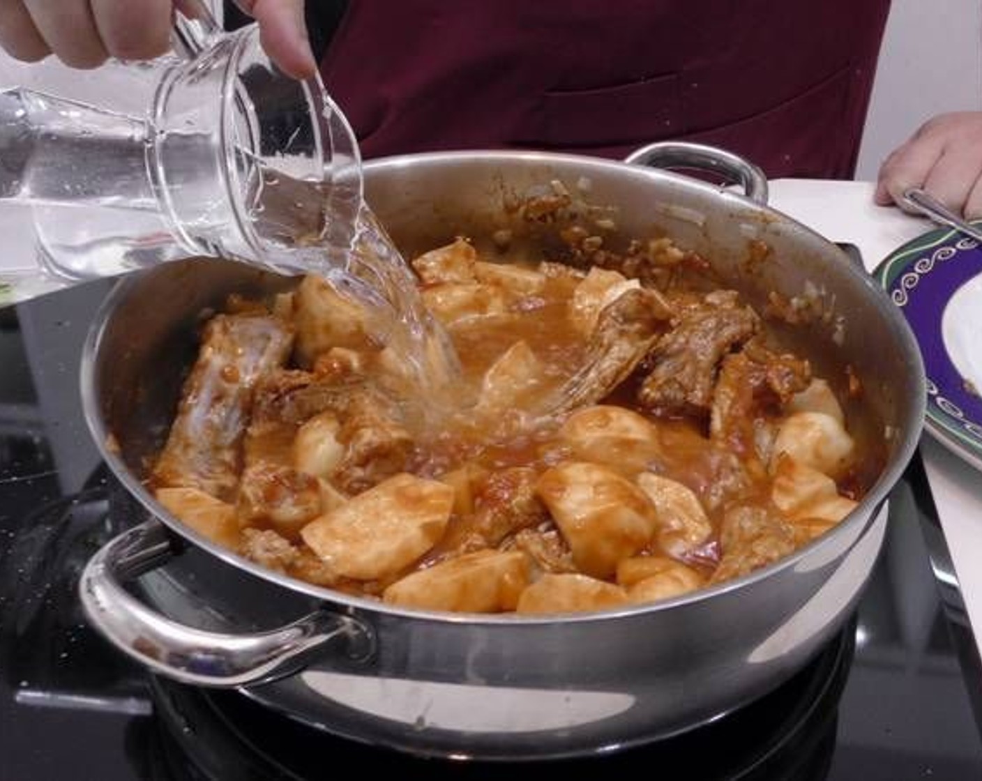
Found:
[[[420,759],[151,677],[87,628],[76,595],[118,531],[78,392],[109,284],[0,309],[0,781],[982,778],[982,667],[919,458],[846,629],[777,691],[670,741],[548,766]]]

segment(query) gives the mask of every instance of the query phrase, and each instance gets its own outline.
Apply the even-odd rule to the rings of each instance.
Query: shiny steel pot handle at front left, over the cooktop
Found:
[[[367,656],[371,632],[351,616],[318,611],[271,632],[223,635],[151,610],[123,586],[175,555],[164,525],[147,521],[106,543],[82,571],[82,608],[110,642],[157,673],[195,686],[230,688],[282,678],[314,649]]]

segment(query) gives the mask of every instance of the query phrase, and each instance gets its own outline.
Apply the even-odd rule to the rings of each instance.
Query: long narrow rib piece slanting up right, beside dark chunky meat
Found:
[[[586,361],[553,397],[549,411],[569,413],[607,396],[651,350],[672,314],[665,298],[647,288],[628,290],[604,307]]]

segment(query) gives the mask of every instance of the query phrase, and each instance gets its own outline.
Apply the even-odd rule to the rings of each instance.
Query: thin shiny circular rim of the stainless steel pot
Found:
[[[724,187],[715,186],[682,174],[676,174],[664,170],[645,168],[632,165],[618,160],[609,160],[587,155],[570,153],[540,152],[540,151],[503,151],[503,150],[456,150],[439,152],[422,152],[413,154],[393,155],[381,157],[364,163],[364,170],[367,175],[374,171],[387,171],[408,169],[421,164],[446,164],[458,166],[462,163],[472,162],[502,162],[514,163],[516,160],[525,163],[559,164],[564,163],[574,165],[586,170],[596,170],[604,172],[616,172],[619,176],[636,176],[647,178],[652,181],[660,181],[669,178],[677,181],[686,188],[701,190],[723,203],[739,207],[741,211],[757,212],[761,219],[769,222],[780,221],[793,226],[795,231],[800,231],[804,235],[810,236],[814,241],[827,245],[838,251],[828,239],[816,233],[807,226],[797,222],[788,215],[772,208],[769,205],[760,204],[749,200],[743,195],[738,195]],[[230,261],[231,262],[231,261]],[[525,615],[516,613],[485,614],[485,613],[452,613],[435,610],[422,610],[418,608],[397,607],[386,604],[378,599],[355,596],[336,591],[325,586],[315,586],[313,584],[291,578],[285,574],[275,572],[263,567],[255,562],[240,556],[228,548],[217,545],[195,530],[183,524],[175,516],[169,513],[160,505],[152,494],[146,489],[142,480],[123,462],[118,452],[112,446],[111,432],[106,428],[102,417],[98,401],[96,388],[95,364],[96,356],[103,336],[108,328],[113,311],[119,304],[126,300],[130,288],[135,284],[135,278],[124,278],[107,295],[102,305],[99,307],[89,328],[84,345],[82,347],[82,363],[80,371],[82,411],[88,426],[89,432],[95,441],[102,458],[115,474],[129,493],[136,498],[142,507],[157,519],[169,530],[177,533],[181,537],[190,540],[196,547],[203,548],[209,554],[216,556],[226,564],[239,570],[247,572],[249,575],[260,578],[276,586],[283,586],[292,591],[303,595],[314,597],[320,602],[325,602],[331,606],[342,609],[356,609],[367,612],[383,613],[393,617],[403,617],[421,621],[434,621],[446,624],[469,624],[469,625],[503,625],[503,626],[535,626],[542,624],[562,623],[590,623],[594,621],[617,620],[625,616],[633,616],[642,613],[653,613],[681,609],[687,605],[701,603],[714,597],[728,594],[754,586],[761,581],[768,580],[775,574],[795,567],[803,558],[812,556],[816,552],[833,548],[840,537],[851,533],[858,526],[863,526],[855,534],[847,549],[858,542],[865,535],[870,526],[875,522],[878,513],[887,500],[894,484],[900,478],[903,470],[913,455],[914,449],[920,439],[923,429],[925,408],[926,408],[926,386],[924,380],[924,366],[921,359],[919,348],[909,326],[902,317],[900,310],[883,294],[883,290],[878,286],[871,275],[858,269],[852,263],[848,263],[847,273],[852,274],[857,281],[870,292],[870,303],[879,310],[882,316],[886,317],[896,333],[900,344],[900,350],[913,369],[909,374],[908,380],[913,383],[917,395],[912,410],[902,421],[905,430],[900,443],[891,454],[886,469],[879,475],[876,482],[859,502],[857,507],[833,529],[826,531],[816,537],[808,544],[798,548],[788,556],[780,560],[755,570],[747,575],[726,581],[715,586],[703,586],[694,591],[682,594],[669,599],[659,600],[649,604],[630,605],[626,607],[608,608],[584,613],[559,613]],[[135,275],[136,276],[136,275]],[[846,550],[847,550],[846,549]],[[837,555],[841,557],[846,551],[840,551]]]

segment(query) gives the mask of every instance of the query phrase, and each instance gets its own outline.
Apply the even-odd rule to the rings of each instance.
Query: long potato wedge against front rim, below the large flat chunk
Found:
[[[500,613],[515,609],[528,572],[521,551],[478,550],[414,572],[386,588],[382,598],[424,610]]]

